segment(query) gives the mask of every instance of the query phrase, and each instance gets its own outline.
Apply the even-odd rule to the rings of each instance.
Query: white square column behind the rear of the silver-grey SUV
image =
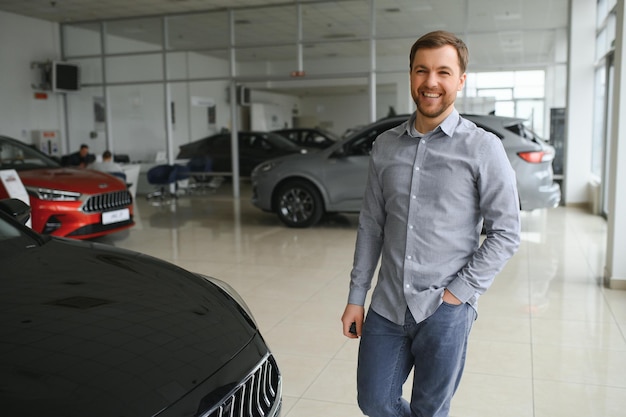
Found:
[[[563,200],[587,203],[593,137],[596,2],[571,0]]]

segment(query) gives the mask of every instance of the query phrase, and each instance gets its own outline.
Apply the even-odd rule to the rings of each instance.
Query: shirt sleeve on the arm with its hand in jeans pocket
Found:
[[[486,237],[448,285],[461,302],[483,294],[520,243],[519,197],[515,171],[497,137],[483,146],[478,166],[479,207]]]

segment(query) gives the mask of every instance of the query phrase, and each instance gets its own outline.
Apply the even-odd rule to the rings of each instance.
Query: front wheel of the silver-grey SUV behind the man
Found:
[[[305,228],[322,218],[324,208],[319,191],[306,181],[289,181],[276,193],[276,214],[289,227]]]

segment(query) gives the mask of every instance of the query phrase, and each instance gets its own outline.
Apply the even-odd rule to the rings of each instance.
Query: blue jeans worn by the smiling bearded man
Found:
[[[369,310],[363,324],[357,369],[358,403],[370,417],[447,417],[476,319],[468,304],[443,303],[415,323],[407,309],[397,325]],[[413,369],[411,402],[402,385]]]

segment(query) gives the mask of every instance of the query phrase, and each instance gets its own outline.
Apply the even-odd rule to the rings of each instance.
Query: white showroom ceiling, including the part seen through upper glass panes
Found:
[[[254,60],[259,53],[295,53],[298,4],[308,56],[367,56],[370,0],[0,0],[0,10],[59,23],[132,17],[133,21],[111,22],[107,30],[159,43],[160,20],[137,18],[180,14],[168,20],[169,42],[184,48],[228,45],[226,10],[233,9],[237,45],[251,46],[249,56],[238,51],[238,59]],[[470,71],[544,68],[565,59],[555,47],[566,39],[569,0],[375,0],[374,8],[377,55],[406,55],[407,69],[411,43],[435,29],[465,40]],[[224,12],[190,15],[218,10]],[[330,42],[359,39],[362,42]],[[268,43],[283,46],[255,48]]]

